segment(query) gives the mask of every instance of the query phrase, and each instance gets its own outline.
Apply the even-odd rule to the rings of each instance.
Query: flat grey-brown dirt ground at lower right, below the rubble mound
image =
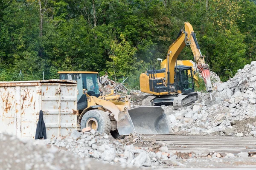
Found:
[[[255,137],[234,136],[177,136],[157,135],[147,136],[157,142],[166,144],[169,152],[183,153],[183,159],[175,162],[166,161],[164,168],[253,168],[256,169]],[[249,153],[250,157],[237,157],[238,153]],[[195,153],[194,158],[186,159],[186,154]],[[221,158],[212,158],[212,153],[220,153]],[[227,153],[233,153],[235,158],[225,158]],[[181,154],[178,154],[181,155]]]

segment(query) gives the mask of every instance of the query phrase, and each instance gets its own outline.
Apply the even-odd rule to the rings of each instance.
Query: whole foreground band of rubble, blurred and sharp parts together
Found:
[[[141,136],[133,137],[142,139]],[[140,139],[134,144],[144,144]],[[134,144],[121,144],[112,137],[93,130],[84,133],[73,131],[68,136],[58,137],[52,141],[18,139],[0,133],[0,170],[101,170],[103,167],[105,170],[129,170],[143,166],[191,167],[195,162],[209,161],[204,158],[213,158],[215,162],[222,162],[225,158],[255,158],[255,153],[247,152],[237,155],[220,154],[209,150],[200,154],[181,153],[168,150],[167,146],[135,147]]]

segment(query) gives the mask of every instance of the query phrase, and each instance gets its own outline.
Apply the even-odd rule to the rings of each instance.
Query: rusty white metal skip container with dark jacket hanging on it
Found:
[[[0,82],[0,133],[35,139],[40,110],[44,112],[47,139],[76,130],[76,81]]]

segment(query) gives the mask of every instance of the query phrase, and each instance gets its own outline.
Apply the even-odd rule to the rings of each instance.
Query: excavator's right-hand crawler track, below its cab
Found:
[[[197,93],[193,93],[193,94],[183,94],[180,96],[177,96],[174,100],[173,100],[173,108],[175,110],[183,107],[183,106],[188,106],[191,105],[193,102],[195,102],[198,99],[198,94]]]

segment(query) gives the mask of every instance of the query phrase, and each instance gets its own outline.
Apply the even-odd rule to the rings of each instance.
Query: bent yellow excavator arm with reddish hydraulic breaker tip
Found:
[[[205,63],[205,60],[204,60],[205,56],[201,54],[198,41],[195,38],[195,32],[193,30],[193,27],[188,22],[185,22],[184,24],[185,25],[183,29],[180,30],[180,33],[177,39],[175,40],[175,42],[173,42],[169,46],[169,50],[166,57],[166,60],[167,60],[166,73],[165,73],[166,84],[169,88],[169,86],[172,83],[174,83],[175,81],[174,71],[175,71],[175,64],[176,64],[177,57],[186,45],[190,45],[190,48],[194,55],[196,66],[199,72],[201,73],[202,77],[204,78],[206,90],[207,92],[209,92],[210,98],[212,100],[212,95],[211,95],[212,83],[210,80],[209,65]]]

